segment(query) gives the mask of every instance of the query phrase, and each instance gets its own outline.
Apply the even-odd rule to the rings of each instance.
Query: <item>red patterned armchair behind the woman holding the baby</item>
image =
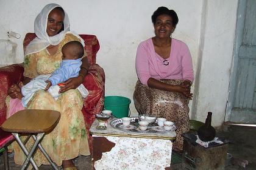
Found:
[[[80,35],[85,41],[85,51],[88,55],[90,69],[84,80],[84,86],[88,89],[89,95],[84,100],[82,113],[86,124],[88,142],[91,150],[91,136],[89,129],[95,120],[95,114],[101,112],[104,106],[105,92],[105,73],[104,70],[96,64],[96,53],[99,50],[99,41],[95,35]],[[35,33],[27,33],[24,38],[23,48],[36,37]],[[0,68],[0,124],[6,120],[5,98],[7,90],[14,83],[19,83],[23,79],[24,68],[22,64],[13,64]]]

